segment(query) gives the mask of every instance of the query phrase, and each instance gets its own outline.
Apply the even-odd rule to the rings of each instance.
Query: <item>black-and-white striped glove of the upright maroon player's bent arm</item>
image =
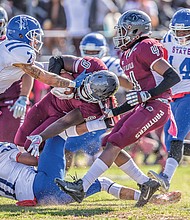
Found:
[[[151,98],[148,91],[131,91],[126,95],[127,103],[130,106],[138,105],[140,103],[146,102]]]

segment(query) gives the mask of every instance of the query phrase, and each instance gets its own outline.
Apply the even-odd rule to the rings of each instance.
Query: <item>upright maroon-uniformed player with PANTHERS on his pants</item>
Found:
[[[136,207],[142,207],[160,184],[140,173],[123,148],[167,122],[170,117],[170,88],[180,81],[180,77],[164,59],[162,44],[150,38],[151,19],[146,13],[140,10],[126,11],[119,18],[116,31],[114,44],[123,51],[120,64],[133,83],[133,91],[127,93],[123,105],[107,109],[105,115],[112,117],[131,111],[103,139],[104,151],[82,179],[74,182],[58,179],[56,182],[76,201],[82,202],[82,196],[89,186],[115,162],[121,170],[140,182],[141,196]],[[172,124],[170,131],[174,132],[174,128]]]

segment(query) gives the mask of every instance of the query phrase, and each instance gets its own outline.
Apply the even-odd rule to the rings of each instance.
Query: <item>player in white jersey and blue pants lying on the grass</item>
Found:
[[[55,177],[64,178],[65,175],[64,148],[59,141],[62,142],[62,138],[49,139],[39,161],[27,152],[19,152],[15,144],[0,142],[0,195],[17,200],[17,206],[62,205],[74,202],[72,197],[54,183]],[[38,165],[37,171],[34,165]],[[137,200],[140,195],[138,190],[101,177],[92,184],[86,197],[100,191],[124,200]],[[151,202],[170,204],[178,202],[180,198],[180,192],[172,192],[155,195]]]

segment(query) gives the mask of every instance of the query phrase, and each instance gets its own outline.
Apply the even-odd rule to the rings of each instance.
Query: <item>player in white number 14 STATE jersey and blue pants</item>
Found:
[[[149,175],[159,180],[162,191],[168,191],[171,179],[183,155],[189,156],[188,144],[183,142],[190,131],[190,9],[178,10],[172,17],[170,30],[162,43],[168,52],[168,62],[178,71],[181,81],[172,87],[171,109],[177,125],[177,135],[168,133],[169,120],[164,127],[165,144],[169,151],[163,173],[149,171]]]

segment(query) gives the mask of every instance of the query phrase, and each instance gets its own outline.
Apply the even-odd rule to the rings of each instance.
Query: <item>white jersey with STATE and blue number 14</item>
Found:
[[[190,44],[179,45],[171,31],[163,38],[162,43],[168,51],[168,62],[179,73],[181,81],[172,87],[172,94],[190,92]]]

